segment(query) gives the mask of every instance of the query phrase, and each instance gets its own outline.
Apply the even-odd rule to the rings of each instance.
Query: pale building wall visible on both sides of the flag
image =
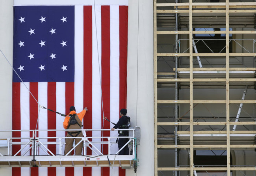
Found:
[[[127,109],[132,125],[141,127],[137,174],[154,175],[154,93],[153,93],[153,1],[129,0]],[[139,17],[139,18],[138,18]],[[13,0],[0,0],[0,49],[12,64]],[[139,24],[139,26],[138,26]],[[0,53],[0,130],[12,129],[12,69]],[[9,118],[8,118],[9,117]],[[1,136],[2,137],[2,136]],[[5,136],[7,137],[7,136]],[[1,175],[11,176],[11,168],[0,167]]]

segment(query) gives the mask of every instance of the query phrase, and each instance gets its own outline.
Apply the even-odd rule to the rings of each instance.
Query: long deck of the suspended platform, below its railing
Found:
[[[133,155],[2,156],[0,167],[133,167]]]

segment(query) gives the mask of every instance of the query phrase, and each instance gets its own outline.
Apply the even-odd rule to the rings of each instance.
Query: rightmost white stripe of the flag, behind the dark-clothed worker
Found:
[[[119,120],[119,6],[110,6],[110,120],[117,123]],[[114,125],[110,123],[112,128]],[[110,132],[117,136],[116,131]],[[115,141],[116,139],[112,139]],[[117,145],[112,145],[111,154],[118,151]],[[109,175],[118,175],[118,167],[110,169]]]

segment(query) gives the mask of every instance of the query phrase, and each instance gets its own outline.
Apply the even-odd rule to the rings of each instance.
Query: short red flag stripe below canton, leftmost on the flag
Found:
[[[13,130],[20,130],[20,83],[13,82]],[[13,137],[20,138],[20,131],[13,131]],[[13,142],[20,140],[13,139]],[[13,155],[20,149],[20,145],[13,145]],[[18,154],[20,155],[20,153]],[[20,176],[20,167],[12,168],[13,176]]]

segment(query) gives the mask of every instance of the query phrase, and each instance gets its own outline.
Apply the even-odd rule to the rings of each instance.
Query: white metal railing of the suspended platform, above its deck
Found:
[[[50,132],[50,131],[82,131],[83,137],[40,137],[39,132]],[[122,131],[130,131],[129,134],[130,136],[86,136],[87,131],[110,131],[110,129],[74,129],[74,130],[0,130],[0,135],[3,136],[2,133],[8,133],[8,132],[30,132],[32,133],[33,137],[8,137],[8,138],[0,138],[0,141],[5,141],[7,143],[7,156],[56,156],[56,155],[63,155],[64,153],[64,148],[63,146],[65,145],[65,139],[66,138],[80,138],[82,139],[80,142],[78,142],[76,145],[73,146],[73,148],[66,154],[69,155],[70,152],[74,151],[75,148],[80,144],[83,143],[82,147],[82,155],[86,156],[87,155],[87,150],[91,150],[92,154],[91,156],[100,156],[100,155],[110,155],[110,154],[118,154],[125,146],[129,146],[131,148],[131,155],[135,156],[136,152],[136,138],[134,136],[134,129],[122,129]],[[118,129],[115,130],[117,132]],[[100,133],[101,134],[101,133]],[[111,153],[111,149],[113,146],[117,146],[117,139],[119,138],[128,138],[128,142],[120,149],[117,151]],[[48,141],[48,140],[54,140],[54,141]],[[107,139],[107,140],[105,140]],[[17,141],[19,140],[19,141]],[[103,144],[103,145],[102,145]],[[20,145],[19,151],[13,153],[12,148],[14,145]],[[56,149],[56,154],[52,152],[48,145],[54,146]],[[101,145],[102,148],[108,147],[108,154],[103,154],[102,149],[98,147],[97,145]],[[106,146],[107,145],[107,146]],[[2,146],[3,147],[3,146]],[[58,149],[58,150],[57,150]],[[41,152],[39,152],[41,150]],[[41,154],[44,153],[44,154]],[[4,156],[4,154],[0,153],[0,157]]]

